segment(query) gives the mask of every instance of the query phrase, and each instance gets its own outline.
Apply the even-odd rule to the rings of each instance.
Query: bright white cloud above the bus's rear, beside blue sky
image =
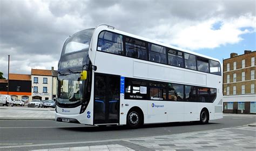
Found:
[[[214,30],[212,26],[218,22],[221,22],[220,29]],[[174,25],[155,26],[145,30],[142,34],[146,36],[147,33],[151,33],[149,36],[152,39],[155,38],[159,42],[177,45],[188,50],[213,49],[221,45],[239,43],[242,35],[256,31],[255,24],[256,17],[251,15],[230,19],[210,18],[200,22],[180,20]]]

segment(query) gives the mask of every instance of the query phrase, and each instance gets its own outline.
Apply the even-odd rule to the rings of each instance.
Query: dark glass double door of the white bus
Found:
[[[120,76],[95,73],[93,123],[119,123]]]

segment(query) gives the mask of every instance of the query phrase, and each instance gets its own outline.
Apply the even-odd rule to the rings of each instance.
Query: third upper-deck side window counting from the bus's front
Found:
[[[166,64],[166,49],[163,46],[149,43],[149,60]]]

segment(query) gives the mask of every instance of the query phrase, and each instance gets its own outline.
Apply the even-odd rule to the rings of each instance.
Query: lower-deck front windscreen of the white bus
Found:
[[[85,80],[80,80],[79,73],[60,75],[58,77],[58,102],[73,104],[83,100]]]

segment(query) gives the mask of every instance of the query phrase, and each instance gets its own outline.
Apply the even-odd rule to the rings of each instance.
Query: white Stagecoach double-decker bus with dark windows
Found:
[[[218,59],[99,25],[65,40],[56,121],[127,125],[223,118]]]

